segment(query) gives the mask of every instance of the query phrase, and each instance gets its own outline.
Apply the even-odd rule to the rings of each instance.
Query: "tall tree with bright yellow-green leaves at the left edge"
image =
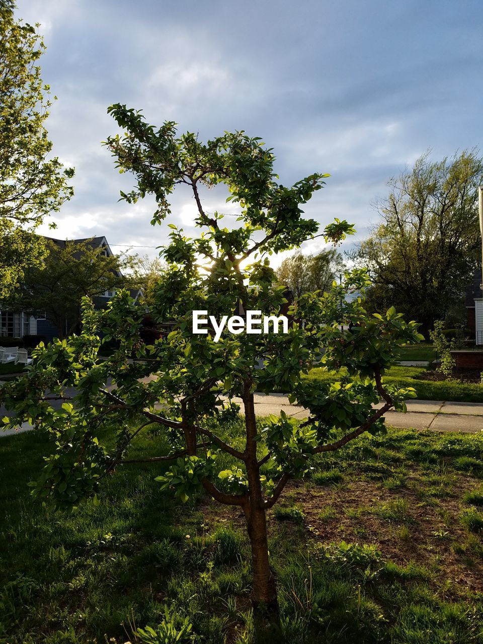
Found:
[[[30,231],[73,194],[73,169],[48,158],[44,123],[52,102],[37,64],[43,39],[15,20],[14,8],[0,1],[0,297],[43,256],[43,238]]]

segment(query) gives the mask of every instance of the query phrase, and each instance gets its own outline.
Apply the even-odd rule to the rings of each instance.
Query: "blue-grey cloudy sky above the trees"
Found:
[[[104,234],[114,251],[151,256],[166,240],[166,224],[149,225],[151,200],[118,202],[133,180],[101,146],[117,132],[106,112],[114,102],[204,139],[234,129],[263,137],[284,184],[330,173],[305,211],[322,223],[345,218],[359,238],[377,221],[371,204],[388,179],[428,147],[440,159],[481,144],[480,0],[17,5],[41,23],[43,79],[59,98],[48,129],[55,154],[76,169],[75,196],[55,218],[59,238]],[[172,221],[190,231],[193,200],[173,202]],[[206,193],[204,205],[229,212],[221,193]]]

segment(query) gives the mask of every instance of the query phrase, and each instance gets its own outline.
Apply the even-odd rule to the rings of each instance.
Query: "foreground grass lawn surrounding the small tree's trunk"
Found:
[[[239,421],[224,431],[241,443]],[[165,446],[140,436],[131,455]],[[254,642],[238,509],[174,502],[158,463],[119,469],[100,506],[51,513],[26,488],[46,451],[37,433],[0,439],[0,642],[134,643],[134,625],[185,618],[196,643]],[[270,513],[283,629],[271,641],[482,643],[482,457],[479,435],[413,430],[319,455]]]

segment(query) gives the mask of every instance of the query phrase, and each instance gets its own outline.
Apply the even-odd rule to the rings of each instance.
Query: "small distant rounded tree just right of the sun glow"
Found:
[[[332,281],[344,272],[342,256],[336,249],[323,249],[316,255],[295,252],[276,270],[279,283],[289,287],[295,297],[310,291],[329,290]]]

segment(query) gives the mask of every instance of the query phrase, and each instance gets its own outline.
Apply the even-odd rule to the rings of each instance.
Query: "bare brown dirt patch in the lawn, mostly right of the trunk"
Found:
[[[336,488],[307,486],[306,482],[290,482],[279,504],[297,504],[305,514],[305,543],[327,545],[342,540],[348,543],[375,545],[386,560],[405,566],[410,562],[431,571],[431,582],[444,596],[483,592],[483,560],[471,552],[457,554],[455,546],[478,535],[469,536],[459,522],[459,515],[468,508],[462,496],[478,488],[480,481],[465,475],[453,475],[451,491],[444,498],[428,495],[428,482],[415,473],[408,473],[406,487],[388,491],[377,481],[347,482]],[[424,489],[426,488],[426,494]],[[287,498],[289,497],[289,498]],[[381,508],[403,499],[403,513],[397,518],[383,516]],[[231,522],[245,530],[243,513],[204,505],[205,522]],[[269,533],[272,537],[296,536],[300,524],[276,521],[269,511]],[[293,535],[292,535],[293,533]],[[303,538],[303,537],[302,537]]]

